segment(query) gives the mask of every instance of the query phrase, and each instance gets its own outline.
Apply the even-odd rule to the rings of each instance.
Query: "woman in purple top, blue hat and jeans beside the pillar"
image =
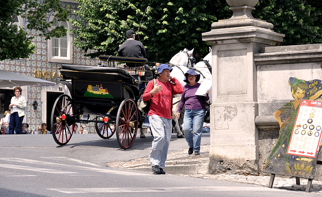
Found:
[[[209,100],[209,90],[206,96],[195,95],[200,83],[200,74],[197,74],[194,69],[189,69],[185,73],[184,81],[187,83],[183,87],[180,104],[177,110],[177,118],[180,118],[180,112],[185,106],[185,115],[183,119],[183,131],[186,141],[189,145],[188,154],[200,155],[200,142],[202,134],[202,126],[205,119],[204,102]]]

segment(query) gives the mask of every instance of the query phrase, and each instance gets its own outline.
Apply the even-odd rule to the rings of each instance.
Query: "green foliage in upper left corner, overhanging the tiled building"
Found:
[[[46,39],[66,35],[64,27],[56,27],[51,31],[52,22],[47,23],[48,14],[57,12],[56,17],[60,21],[66,21],[68,9],[63,9],[59,0],[7,0],[2,1],[0,7],[0,60],[28,58],[34,53],[32,44],[32,30],[40,32],[39,35]],[[14,26],[13,16],[21,16],[26,22],[26,28],[20,30]]]

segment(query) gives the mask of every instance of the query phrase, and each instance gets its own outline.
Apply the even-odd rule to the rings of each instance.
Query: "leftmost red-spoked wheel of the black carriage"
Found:
[[[69,142],[74,129],[74,106],[68,100],[69,95],[58,96],[51,111],[51,133],[59,145]]]

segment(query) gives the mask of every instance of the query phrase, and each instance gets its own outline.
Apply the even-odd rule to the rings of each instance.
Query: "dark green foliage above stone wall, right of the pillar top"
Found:
[[[322,43],[322,1],[260,0],[253,16],[285,34],[282,45]]]

